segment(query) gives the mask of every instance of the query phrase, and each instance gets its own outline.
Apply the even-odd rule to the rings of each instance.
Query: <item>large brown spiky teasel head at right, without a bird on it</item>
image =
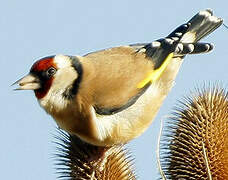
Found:
[[[166,179],[228,179],[228,92],[198,89],[173,115],[161,140]]]

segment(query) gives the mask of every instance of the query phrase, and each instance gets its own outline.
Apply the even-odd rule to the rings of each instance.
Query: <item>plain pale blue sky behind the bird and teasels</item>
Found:
[[[1,179],[54,180],[53,134],[56,124],[38,105],[33,92],[12,91],[14,81],[33,62],[53,54],[91,51],[151,42],[168,35],[199,10],[212,8],[228,24],[227,0],[7,0],[0,3],[0,171]],[[160,120],[184,95],[204,82],[227,86],[228,29],[221,26],[203,41],[213,52],[187,56],[150,128],[129,148],[139,179],[156,179],[156,144]]]

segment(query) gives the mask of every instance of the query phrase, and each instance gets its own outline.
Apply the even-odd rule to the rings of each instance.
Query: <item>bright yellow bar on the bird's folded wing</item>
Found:
[[[138,83],[137,88],[139,88],[139,89],[143,88],[150,81],[151,82],[156,81],[161,76],[161,74],[163,73],[165,68],[168,66],[168,64],[170,63],[170,60],[173,58],[173,56],[174,56],[174,53],[170,53],[158,69],[150,71],[148,73],[148,75],[146,76],[146,78]]]

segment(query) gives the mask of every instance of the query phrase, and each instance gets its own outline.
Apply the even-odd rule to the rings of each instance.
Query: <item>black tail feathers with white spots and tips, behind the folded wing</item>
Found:
[[[217,29],[222,22],[221,18],[213,16],[212,10],[200,11],[188,21],[189,28],[176,46],[175,53],[185,55],[211,51],[213,49],[211,43],[200,43],[198,41]],[[169,34],[168,37],[174,36],[177,30],[178,28]]]

